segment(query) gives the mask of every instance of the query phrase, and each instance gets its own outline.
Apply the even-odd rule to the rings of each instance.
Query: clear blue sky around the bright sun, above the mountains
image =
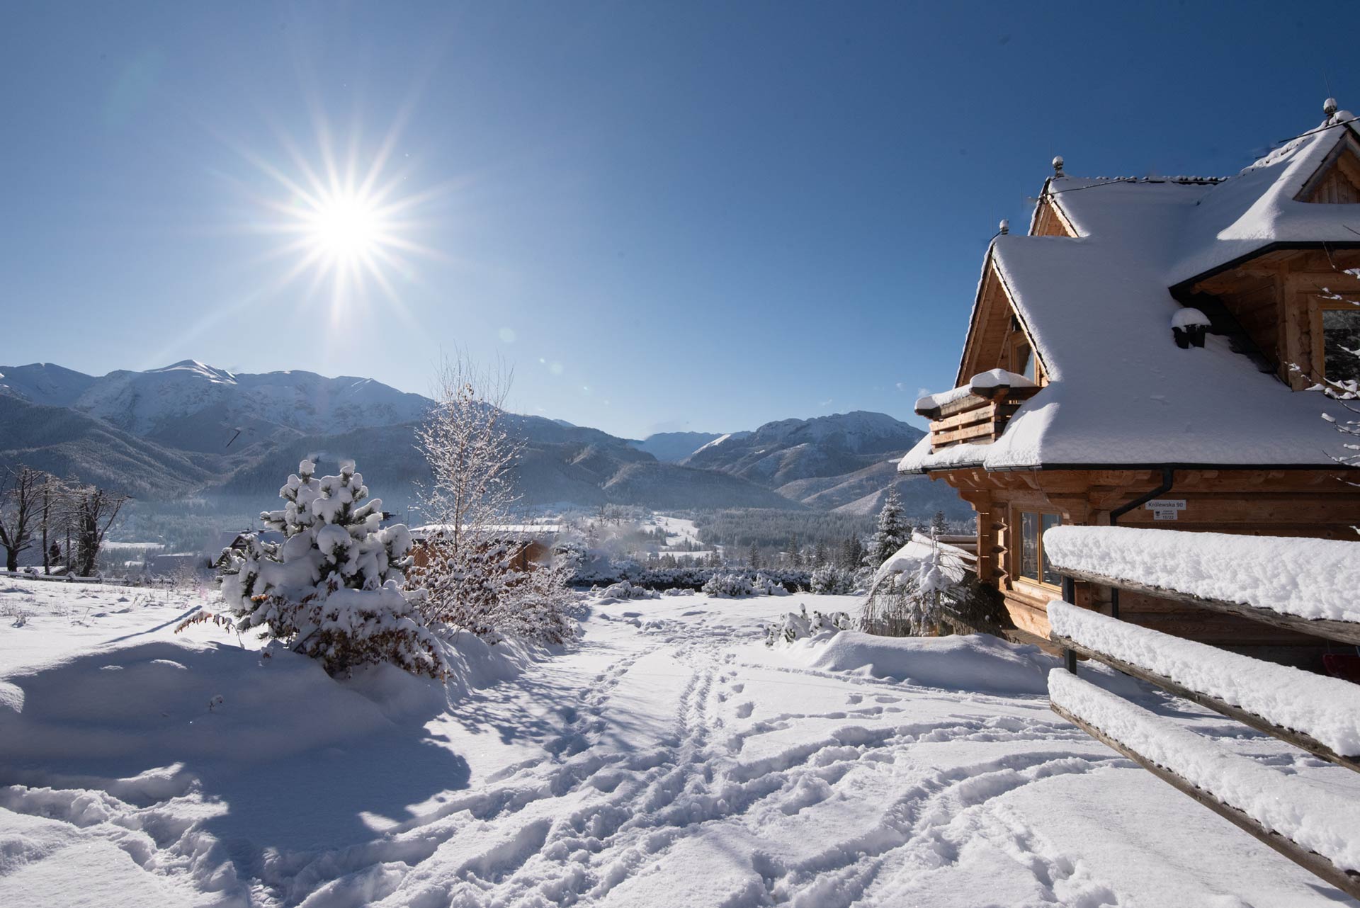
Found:
[[[439,351],[607,431],[915,417],[982,253],[1078,175],[1228,174],[1360,105],[1341,4],[22,4],[0,363],[200,359],[426,391]],[[337,298],[275,230],[408,204]],[[390,141],[389,141],[390,139]],[[290,182],[291,181],[291,182]],[[287,219],[283,219],[287,220]],[[415,249],[413,249],[415,247]]]

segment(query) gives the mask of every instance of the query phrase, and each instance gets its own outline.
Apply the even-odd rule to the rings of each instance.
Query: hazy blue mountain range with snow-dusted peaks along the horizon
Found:
[[[103,377],[53,363],[0,366],[0,464],[141,499],[192,495],[249,511],[271,504],[305,457],[322,469],[355,459],[390,507],[405,507],[428,477],[415,427],[430,405],[367,378],[238,374],[196,360]],[[507,423],[525,442],[517,484],[526,507],[872,512],[895,483],[911,514],[964,515],[948,488],[896,474],[894,461],[922,432],[884,413],[642,440],[539,416],[507,415]]]

